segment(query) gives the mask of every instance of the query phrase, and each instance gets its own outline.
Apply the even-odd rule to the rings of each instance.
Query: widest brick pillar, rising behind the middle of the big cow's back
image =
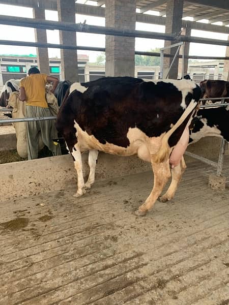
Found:
[[[135,29],[135,0],[106,0],[107,27]],[[106,35],[106,76],[134,76],[135,38]]]

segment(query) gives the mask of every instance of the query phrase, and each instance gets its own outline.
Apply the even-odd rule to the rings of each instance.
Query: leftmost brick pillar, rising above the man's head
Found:
[[[34,18],[45,19],[44,8],[33,9]],[[47,43],[46,29],[35,28],[35,39],[38,43]],[[37,48],[37,65],[41,73],[50,74],[48,48]]]

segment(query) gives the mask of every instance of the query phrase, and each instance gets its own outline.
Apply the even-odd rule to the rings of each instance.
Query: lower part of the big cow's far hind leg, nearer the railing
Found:
[[[182,175],[186,169],[186,164],[184,161],[184,157],[182,157],[178,166],[175,166],[171,169],[172,180],[169,188],[167,189],[166,193],[158,198],[160,202],[166,202],[174,198],[174,195],[177,191],[178,185],[182,178]]]

